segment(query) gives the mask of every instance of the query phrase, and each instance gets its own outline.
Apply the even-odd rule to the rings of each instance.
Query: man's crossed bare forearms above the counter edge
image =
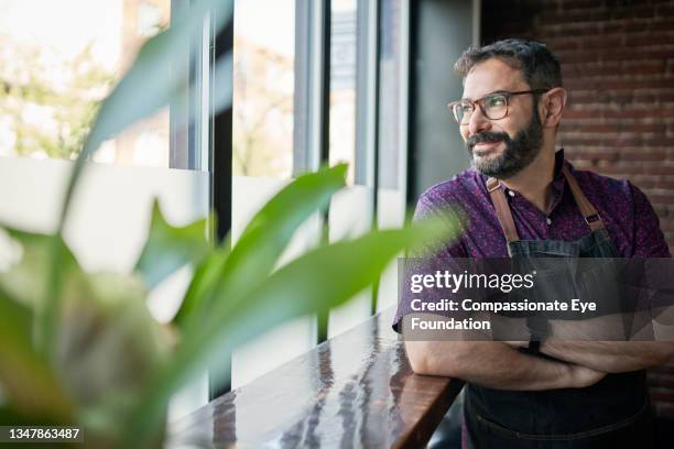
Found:
[[[417,374],[457,377],[502,390],[585,387],[607,373],[661,365],[674,357],[673,341],[544,342],[541,352],[555,360],[520,352],[518,348],[525,344],[519,341],[406,340],[405,349],[412,370]]]

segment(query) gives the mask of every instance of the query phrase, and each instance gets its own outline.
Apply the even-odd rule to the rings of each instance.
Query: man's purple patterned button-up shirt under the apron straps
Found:
[[[579,240],[590,232],[566,185],[566,164],[580,189],[595,206],[621,258],[671,258],[660,220],[645,195],[629,180],[577,171],[557,151],[553,204],[545,215],[517,191],[501,185],[522,240]],[[487,177],[468,169],[426,190],[418,199],[414,219],[458,205],[467,216],[461,237],[436,253],[441,258],[508,258],[506,236],[485,185]],[[396,328],[405,307],[394,318]]]

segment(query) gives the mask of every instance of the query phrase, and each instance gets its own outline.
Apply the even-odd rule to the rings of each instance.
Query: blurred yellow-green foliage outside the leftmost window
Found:
[[[54,67],[39,47],[2,37],[0,117],[4,142],[15,155],[75,158],[91,129],[113,74],[91,55],[91,45]],[[56,75],[57,74],[57,75]],[[6,138],[7,139],[7,138]],[[11,145],[9,145],[12,143]]]

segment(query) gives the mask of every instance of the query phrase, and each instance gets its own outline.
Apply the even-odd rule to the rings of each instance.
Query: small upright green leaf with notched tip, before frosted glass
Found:
[[[164,219],[159,201],[152,207],[150,233],[135,270],[150,288],[181,266],[198,264],[208,253],[207,220],[174,228]]]

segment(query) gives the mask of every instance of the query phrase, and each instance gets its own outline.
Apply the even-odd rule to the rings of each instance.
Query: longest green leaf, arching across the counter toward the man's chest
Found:
[[[224,297],[214,304],[200,327],[187,329],[174,359],[150,383],[139,409],[131,415],[129,435],[140,438],[162,418],[171,392],[206,366],[216,355],[287,319],[336,307],[370,285],[388,263],[410,245],[445,241],[456,233],[443,220],[414,229],[378,231],[322,247],[290,262],[269,277],[248,280],[256,287],[244,297]],[[134,439],[134,441],[138,441]]]

